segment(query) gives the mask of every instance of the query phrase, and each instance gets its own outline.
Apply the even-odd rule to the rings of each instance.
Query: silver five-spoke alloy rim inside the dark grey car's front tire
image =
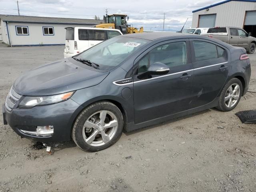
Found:
[[[102,110],[92,114],[84,123],[82,135],[90,146],[102,146],[108,143],[116,134],[118,120],[108,111]]]

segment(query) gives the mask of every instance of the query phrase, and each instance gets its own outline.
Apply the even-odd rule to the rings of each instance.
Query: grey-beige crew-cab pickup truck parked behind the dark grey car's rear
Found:
[[[201,35],[216,38],[233,46],[243,47],[250,54],[254,53],[256,49],[256,38],[238,27],[209,28],[207,33],[201,33]]]

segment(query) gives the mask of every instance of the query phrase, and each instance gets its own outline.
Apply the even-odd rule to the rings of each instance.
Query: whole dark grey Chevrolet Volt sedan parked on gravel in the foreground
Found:
[[[24,138],[74,140],[93,152],[131,131],[208,108],[234,109],[248,90],[244,48],[168,32],[128,34],[14,82],[4,123]]]

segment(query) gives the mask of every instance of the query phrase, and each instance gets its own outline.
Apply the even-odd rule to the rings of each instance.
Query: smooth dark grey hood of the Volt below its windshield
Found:
[[[95,86],[109,74],[71,60],[63,59],[26,72],[16,79],[14,90],[23,96],[60,94]]]

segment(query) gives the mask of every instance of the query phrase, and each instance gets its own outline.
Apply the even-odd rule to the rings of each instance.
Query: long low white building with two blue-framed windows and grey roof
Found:
[[[64,45],[66,27],[88,27],[102,20],[0,15],[2,41],[10,46]]]

